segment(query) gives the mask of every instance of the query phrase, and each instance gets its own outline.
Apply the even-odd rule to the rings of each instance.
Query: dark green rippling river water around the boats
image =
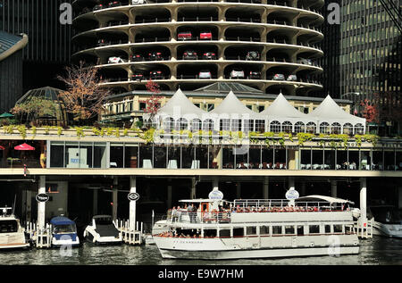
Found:
[[[63,256],[59,249],[30,249],[1,251],[0,264],[26,265],[338,265],[338,264],[402,264],[402,239],[373,237],[360,241],[360,254],[339,257],[319,256],[286,259],[257,259],[232,261],[166,260],[156,246],[92,246],[85,243],[73,248],[71,256]]]

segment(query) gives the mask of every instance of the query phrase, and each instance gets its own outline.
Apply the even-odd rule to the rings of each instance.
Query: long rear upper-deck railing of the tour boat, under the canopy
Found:
[[[334,212],[346,209],[347,205],[325,201],[295,201],[294,205],[288,199],[240,199],[233,202],[233,210],[236,212]]]

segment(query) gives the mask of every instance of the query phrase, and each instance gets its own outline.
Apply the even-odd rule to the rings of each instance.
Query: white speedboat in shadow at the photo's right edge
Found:
[[[372,205],[369,214],[373,215],[373,235],[402,238],[402,220],[394,206]]]

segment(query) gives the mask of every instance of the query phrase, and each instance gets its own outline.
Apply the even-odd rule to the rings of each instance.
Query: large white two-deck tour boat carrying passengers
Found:
[[[222,260],[358,254],[347,200],[305,196],[284,200],[182,200],[197,211],[168,211],[153,235],[163,258]],[[181,207],[183,207],[181,205]],[[192,212],[193,211],[193,212]],[[162,227],[161,227],[162,228]]]

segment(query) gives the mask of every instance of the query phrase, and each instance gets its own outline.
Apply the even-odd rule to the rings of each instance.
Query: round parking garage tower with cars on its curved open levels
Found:
[[[322,72],[322,4],[77,1],[73,59],[95,63],[104,85],[120,93],[145,90],[148,79],[163,90],[236,79],[264,93],[307,96],[322,88],[312,79]]]

